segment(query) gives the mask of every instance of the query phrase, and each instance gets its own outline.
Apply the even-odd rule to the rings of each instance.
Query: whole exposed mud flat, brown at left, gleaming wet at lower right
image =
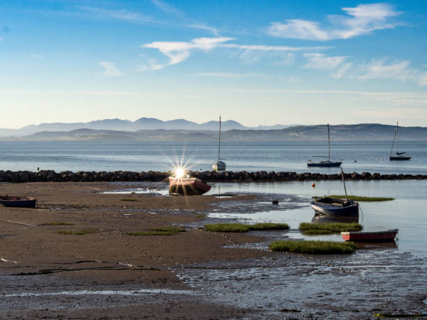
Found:
[[[0,206],[3,317],[338,318],[426,308],[426,264],[410,253],[285,254],[265,250],[264,231],[197,228],[211,212],[270,210],[269,196],[123,195],[104,193],[121,188],[117,183],[98,182],[0,188],[38,199],[33,209]],[[281,197],[284,214],[307,201]],[[186,231],[129,235],[178,226]],[[288,232],[296,231],[269,234]]]

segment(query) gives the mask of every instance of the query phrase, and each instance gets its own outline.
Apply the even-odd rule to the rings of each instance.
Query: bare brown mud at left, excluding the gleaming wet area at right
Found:
[[[0,206],[0,273],[6,317],[243,317],[251,310],[209,303],[172,273],[171,267],[203,261],[268,256],[260,250],[225,248],[257,241],[245,234],[191,229],[173,236],[129,236],[201,220],[211,196],[155,197],[97,193],[107,183],[2,184],[1,193],[38,199],[37,208]],[[137,201],[122,201],[123,198]],[[156,214],[153,214],[155,210]],[[190,213],[189,213],[190,211]],[[41,225],[66,222],[73,225]],[[59,230],[93,230],[63,235]],[[43,273],[43,274],[40,274]],[[172,294],[121,296],[99,291],[170,289]],[[58,291],[96,290],[98,294],[43,296]],[[19,294],[31,296],[31,303]],[[141,298],[143,297],[143,299]],[[82,301],[80,301],[82,300]],[[7,303],[6,303],[7,302]]]

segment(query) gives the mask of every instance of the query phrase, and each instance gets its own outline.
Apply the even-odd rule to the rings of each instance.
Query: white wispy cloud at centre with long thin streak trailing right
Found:
[[[256,61],[262,52],[295,52],[308,49],[324,49],[325,47],[288,47],[284,45],[239,45],[237,43],[227,43],[234,38],[217,37],[217,38],[195,38],[188,42],[184,41],[155,41],[141,45],[142,48],[158,49],[159,52],[169,58],[167,63],[160,64],[156,60],[147,61],[147,66],[142,66],[140,70],[159,70],[166,66],[185,61],[190,56],[190,53],[195,49],[204,50],[205,52],[217,47],[238,49],[241,53],[241,59],[244,61]],[[255,54],[254,54],[255,52]],[[293,56],[279,56],[279,60],[283,63],[290,63]]]

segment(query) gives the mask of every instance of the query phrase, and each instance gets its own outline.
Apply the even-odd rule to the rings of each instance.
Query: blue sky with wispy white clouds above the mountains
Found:
[[[0,1],[0,128],[427,126],[426,1]]]

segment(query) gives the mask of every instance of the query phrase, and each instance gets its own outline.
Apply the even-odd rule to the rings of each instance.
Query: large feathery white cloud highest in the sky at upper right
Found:
[[[325,41],[352,38],[399,25],[391,19],[400,15],[400,12],[388,3],[359,4],[357,7],[342,10],[347,15],[329,15],[330,24],[325,27],[310,20],[291,19],[272,22],[267,33],[280,38]]]

